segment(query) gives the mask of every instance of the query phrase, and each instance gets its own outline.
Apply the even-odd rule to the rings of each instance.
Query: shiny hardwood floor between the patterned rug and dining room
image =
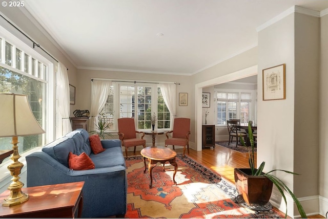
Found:
[[[175,149],[175,151],[182,152],[182,149]],[[219,173],[220,176],[232,183],[235,183],[234,168],[249,168],[248,153],[241,153],[219,145],[216,145],[214,149],[211,147],[201,151],[189,149],[189,153],[186,150],[186,154],[200,164]],[[132,155],[140,155],[140,151],[136,151],[136,154],[133,154],[133,151],[129,151],[128,156]],[[255,153],[255,166],[256,157]],[[325,217],[322,215],[312,215],[309,218]]]

